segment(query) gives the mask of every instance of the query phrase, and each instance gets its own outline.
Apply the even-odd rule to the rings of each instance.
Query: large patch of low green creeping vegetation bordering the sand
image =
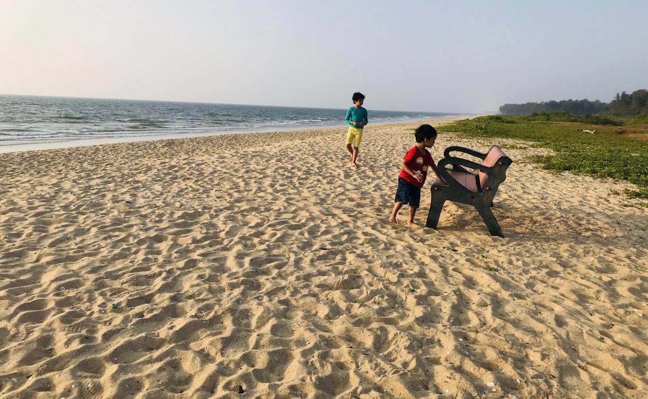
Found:
[[[572,125],[572,126],[570,126]],[[597,134],[581,132],[569,123],[529,121],[527,117],[490,115],[439,127],[440,132],[460,132],[472,137],[531,141],[553,150],[552,155],[533,157],[546,169],[618,178],[640,186],[625,190],[632,198],[648,199],[648,142],[599,128]]]

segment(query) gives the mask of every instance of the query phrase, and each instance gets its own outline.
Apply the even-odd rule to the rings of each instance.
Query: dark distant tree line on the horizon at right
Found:
[[[500,106],[500,112],[504,115],[530,115],[539,112],[561,111],[575,115],[609,114],[616,116],[634,116],[648,114],[648,90],[636,90],[631,94],[625,91],[616,93],[616,96],[610,103],[584,99],[504,104]]]

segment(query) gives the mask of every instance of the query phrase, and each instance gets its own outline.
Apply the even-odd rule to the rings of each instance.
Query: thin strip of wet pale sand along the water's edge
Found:
[[[424,119],[408,119],[406,121],[388,121],[385,123],[375,123],[369,126],[380,126],[380,125],[395,125],[401,123],[410,123],[417,121],[437,121],[437,120],[461,120],[467,118],[474,118],[480,115],[461,115],[457,117],[438,117],[438,118],[424,118]],[[25,151],[45,151],[52,149],[64,149],[64,148],[75,148],[75,147],[88,147],[93,145],[104,145],[104,144],[118,144],[118,143],[137,143],[141,141],[159,141],[167,139],[183,139],[183,138],[195,138],[195,137],[211,137],[211,136],[229,136],[234,134],[251,134],[251,133],[272,133],[272,132],[299,132],[302,130],[321,130],[328,128],[345,128],[347,125],[313,125],[309,127],[294,127],[294,128],[267,128],[267,129],[241,129],[241,130],[225,130],[222,132],[202,132],[202,133],[168,133],[168,134],[151,134],[144,136],[133,136],[133,137],[117,137],[117,138],[87,138],[87,139],[75,139],[75,140],[65,140],[65,141],[49,141],[45,143],[29,143],[29,144],[11,144],[11,145],[0,145],[0,154],[5,154],[8,152],[25,152]]]

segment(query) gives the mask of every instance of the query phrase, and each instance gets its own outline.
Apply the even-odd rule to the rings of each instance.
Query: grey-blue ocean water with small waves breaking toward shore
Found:
[[[342,126],[346,110],[0,95],[0,146]],[[458,116],[367,110],[370,124]]]

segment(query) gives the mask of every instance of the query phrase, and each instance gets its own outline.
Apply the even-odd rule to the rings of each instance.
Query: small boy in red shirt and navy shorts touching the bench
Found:
[[[410,220],[407,224],[416,226],[418,223],[414,221],[416,209],[419,208],[421,202],[421,187],[428,176],[428,166],[432,167],[434,173],[439,176],[432,155],[426,149],[432,148],[437,139],[437,130],[430,125],[421,125],[415,132],[416,145],[405,154],[403,161],[400,162],[399,187],[396,190],[396,197],[394,199],[394,210],[391,212],[389,221],[396,223],[396,215],[399,213],[400,207],[403,204],[410,205]],[[439,176],[441,178],[441,176]],[[443,178],[441,178],[443,181]]]

